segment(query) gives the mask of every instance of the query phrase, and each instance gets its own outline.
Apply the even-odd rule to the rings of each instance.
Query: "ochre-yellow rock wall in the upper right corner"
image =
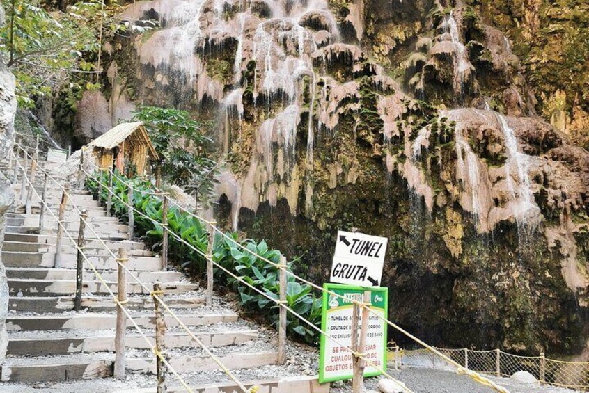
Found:
[[[466,1],[505,31],[534,86],[536,108],[558,131],[589,149],[589,3]]]

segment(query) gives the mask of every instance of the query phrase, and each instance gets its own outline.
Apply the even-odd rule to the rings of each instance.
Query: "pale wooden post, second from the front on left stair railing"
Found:
[[[116,330],[115,330],[115,364],[113,375],[117,379],[125,378],[125,333],[127,331],[127,316],[123,311],[122,305],[127,302],[127,275],[123,266],[129,261],[127,250],[118,249],[116,259],[118,280],[117,280],[117,300],[116,305]],[[122,265],[122,266],[121,266]]]

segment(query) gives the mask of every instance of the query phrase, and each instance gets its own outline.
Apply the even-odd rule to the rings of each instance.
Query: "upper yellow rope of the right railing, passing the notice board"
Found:
[[[107,170],[111,171],[111,173],[113,172],[110,168],[107,168]],[[86,175],[90,175],[91,177],[93,177],[93,179],[95,179],[99,184],[102,184],[102,182],[100,182],[100,180],[98,180],[96,177],[94,177],[93,175],[89,174],[88,171],[84,170],[84,172],[86,173]],[[120,178],[120,181],[123,182],[124,184],[126,184],[127,186],[131,186],[129,184],[129,182],[125,182],[124,179]],[[104,187],[104,184],[102,184],[102,186]],[[139,191],[139,190],[137,190]],[[162,195],[162,193],[153,193],[152,195],[155,195],[157,197],[159,197],[160,195]],[[120,198],[119,198],[120,199]],[[121,200],[121,199],[120,199]],[[258,255],[258,253],[253,252],[252,250],[250,250],[249,248],[246,248],[245,246],[243,246],[241,243],[235,241],[235,239],[233,239],[231,236],[228,236],[225,232],[223,232],[223,230],[219,229],[219,227],[217,227],[216,225],[214,225],[213,221],[209,221],[209,220],[205,220],[205,218],[202,218],[196,214],[194,214],[193,212],[185,209],[184,207],[180,206],[180,204],[175,203],[171,198],[168,198],[168,200],[170,200],[171,202],[173,202],[178,208],[180,208],[182,211],[184,211],[184,213],[189,214],[190,216],[200,220],[202,223],[205,223],[206,225],[209,225],[210,227],[212,227],[212,229],[214,230],[214,232],[218,232],[219,234],[221,234],[221,236],[223,236],[223,238],[227,239],[228,241],[230,241],[231,243],[234,243],[237,247],[241,248],[242,250],[249,252],[249,254],[253,255],[254,257],[266,262],[267,264],[273,266],[274,268],[277,268],[278,270],[284,271],[287,275],[292,276],[295,280],[298,280],[300,282],[303,282],[304,284],[308,284],[309,286],[327,293],[331,296],[336,296],[338,298],[345,298],[344,296],[337,294],[334,291],[330,291],[329,289],[324,289],[323,287],[320,287],[319,285],[315,284],[314,282],[311,282],[309,280],[306,280],[305,278],[301,278],[299,275],[296,275],[295,273],[293,273],[292,271],[289,271],[288,268],[286,268],[285,266],[281,265],[281,264],[276,264],[276,262],[272,262],[271,260],[262,257],[261,255]],[[121,200],[121,202],[123,202],[123,200]],[[125,204],[125,202],[123,202]],[[127,207],[129,207],[127,205]],[[146,216],[145,214],[143,214],[141,211],[138,211],[137,209],[135,209],[134,207],[132,207],[132,209],[134,209],[134,211],[138,212],[141,216],[147,218],[148,220],[151,220],[152,222],[156,223],[157,225],[162,225],[162,223],[157,223],[157,221],[153,220],[152,218]],[[171,233],[168,229],[168,233]],[[186,242],[184,242],[186,243]],[[216,262],[213,262],[213,264],[216,264]],[[222,269],[224,270],[224,269]],[[501,392],[501,393],[509,393],[509,391],[507,389],[505,389],[505,387],[502,387],[500,385],[497,385],[496,383],[494,383],[492,380],[489,380],[488,378],[485,378],[485,376],[481,376],[480,374],[477,374],[476,371],[473,371],[471,369],[462,367],[461,364],[459,364],[458,362],[455,362],[455,360],[453,360],[452,358],[448,357],[447,355],[441,353],[440,351],[437,351],[436,348],[434,348],[433,346],[430,346],[429,344],[426,344],[425,342],[423,342],[421,339],[418,339],[418,337],[411,335],[411,333],[407,332],[407,330],[401,328],[400,326],[398,326],[397,324],[393,323],[392,321],[389,321],[388,319],[384,318],[384,316],[382,316],[381,314],[375,312],[374,310],[372,310],[370,307],[368,307],[368,305],[364,305],[361,301],[359,300],[355,300],[355,299],[348,299],[345,298],[346,300],[350,301],[350,303],[352,304],[356,304],[359,305],[362,308],[366,308],[368,309],[368,312],[370,312],[371,314],[377,316],[377,318],[381,321],[383,321],[384,323],[386,323],[388,326],[391,326],[391,328],[394,328],[395,330],[397,330],[398,332],[402,333],[403,335],[409,337],[410,339],[414,340],[414,342],[420,344],[421,346],[424,346],[425,348],[427,348],[428,350],[432,351],[433,353],[436,353],[436,355],[438,355],[441,359],[445,360],[446,362],[448,362],[448,364],[453,365],[456,368],[456,372],[457,374],[461,374],[461,375],[466,375],[469,376],[469,378],[476,380],[476,382],[481,383],[482,385],[486,385],[488,387],[492,387],[494,390],[496,390],[497,392]]]

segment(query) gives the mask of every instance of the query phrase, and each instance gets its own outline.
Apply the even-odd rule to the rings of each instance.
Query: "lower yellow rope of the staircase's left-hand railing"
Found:
[[[11,152],[11,154],[13,154],[13,153]],[[153,346],[151,344],[151,342],[148,339],[146,333],[143,332],[143,330],[139,327],[139,325],[133,319],[133,316],[129,313],[129,310],[127,310],[127,307],[125,307],[125,305],[123,305],[123,303],[121,303],[118,300],[117,296],[110,289],[110,287],[107,284],[107,282],[104,281],[104,278],[102,278],[102,275],[97,271],[97,269],[94,266],[94,264],[90,261],[90,259],[88,259],[88,257],[84,253],[84,248],[83,247],[80,247],[77,244],[77,242],[74,240],[74,238],[72,237],[72,235],[70,234],[70,232],[68,231],[68,229],[65,227],[64,223],[61,220],[59,220],[59,218],[54,214],[54,212],[51,209],[49,209],[49,206],[47,206],[47,202],[45,202],[45,200],[43,200],[40,197],[40,195],[38,194],[38,192],[35,190],[35,187],[33,186],[33,183],[31,183],[29,177],[26,175],[26,170],[24,170],[23,166],[20,163],[18,163],[18,166],[21,168],[22,175],[26,179],[26,182],[29,184],[29,186],[33,189],[33,192],[37,195],[37,197],[40,199],[40,201],[42,202],[42,204],[45,204],[45,208],[47,209],[47,211],[49,211],[49,214],[51,214],[51,216],[54,218],[54,220],[56,221],[56,223],[59,226],[61,226],[61,228],[62,228],[63,232],[65,233],[65,235],[68,236],[68,238],[70,239],[70,241],[72,241],[72,243],[74,244],[74,248],[76,248],[76,250],[84,258],[84,261],[91,267],[92,271],[94,272],[94,274],[96,275],[96,277],[98,278],[98,280],[100,280],[100,282],[104,285],[104,287],[107,288],[107,291],[109,291],[109,295],[113,298],[113,300],[116,303],[116,305],[118,305],[118,307],[120,307],[120,309],[123,310],[123,312],[125,313],[125,316],[127,316],[127,318],[129,319],[129,321],[131,321],[131,323],[133,324],[134,328],[137,330],[137,332],[139,332],[139,335],[141,335],[141,337],[148,344],[148,346],[149,346],[150,350],[152,351],[152,353],[154,353],[154,355],[156,355],[162,362],[164,362],[164,364],[166,364],[166,367],[168,367],[168,369],[170,369],[172,371],[172,374],[176,378],[178,378],[178,381],[182,384],[182,386],[186,390],[188,390],[189,392],[193,392],[193,390],[191,390],[191,388],[186,383],[186,381],[184,380],[184,378],[182,378],[182,376],[180,376],[180,374],[178,374],[178,372],[172,367],[172,365],[168,362],[168,360],[166,360],[166,358],[164,357],[164,355],[162,353],[159,353],[159,351],[156,350],[155,346]],[[245,392],[247,392],[247,391],[245,391]]]

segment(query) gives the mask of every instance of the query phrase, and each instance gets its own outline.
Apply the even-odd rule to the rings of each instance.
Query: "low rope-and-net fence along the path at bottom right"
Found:
[[[463,367],[494,376],[510,377],[517,371],[527,371],[546,385],[589,390],[589,362],[572,362],[539,356],[516,355],[492,349],[477,351],[469,348],[436,348],[451,353]],[[408,367],[439,368],[435,354],[426,348],[399,349],[390,352],[391,360]]]

